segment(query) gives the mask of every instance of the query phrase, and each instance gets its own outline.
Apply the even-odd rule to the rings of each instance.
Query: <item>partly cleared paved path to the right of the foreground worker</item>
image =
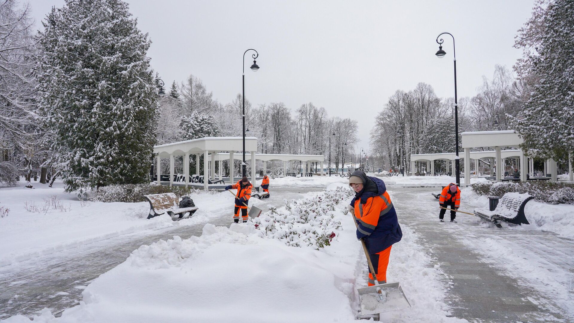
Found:
[[[445,272],[453,316],[471,322],[572,321],[572,239],[497,229],[466,214],[457,216],[458,223],[439,222],[438,202],[430,195],[439,189],[389,190],[400,221],[416,230],[420,244]],[[461,205],[467,212],[473,208]]]

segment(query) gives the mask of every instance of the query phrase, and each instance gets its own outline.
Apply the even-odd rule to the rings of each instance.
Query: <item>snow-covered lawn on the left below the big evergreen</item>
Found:
[[[75,194],[64,193],[58,182],[52,188],[38,183],[33,187],[0,188],[0,207],[10,210],[0,218],[0,266],[122,234],[207,222],[212,213],[228,209],[233,199],[219,193],[224,203],[211,203],[214,195],[194,194],[200,209],[192,218],[174,222],[161,216],[146,220],[148,202],[79,201]]]

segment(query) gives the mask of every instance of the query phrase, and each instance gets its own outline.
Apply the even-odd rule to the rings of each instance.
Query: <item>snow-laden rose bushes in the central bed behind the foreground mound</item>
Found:
[[[331,245],[336,232],[341,229],[341,223],[334,220],[334,213],[346,210],[346,206],[340,203],[352,195],[354,192],[348,187],[337,187],[312,198],[285,201],[284,207],[271,207],[269,212],[255,218],[255,227],[263,235],[281,240],[286,245],[323,248]]]

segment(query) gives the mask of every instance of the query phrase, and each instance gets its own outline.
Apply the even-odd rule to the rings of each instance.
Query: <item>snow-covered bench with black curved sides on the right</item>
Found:
[[[528,193],[506,193],[503,197],[488,197],[491,200],[489,210],[475,209],[474,215],[493,222],[502,228],[501,221],[511,224],[530,224],[524,214],[524,206],[534,197]],[[496,201],[498,200],[498,204]]]

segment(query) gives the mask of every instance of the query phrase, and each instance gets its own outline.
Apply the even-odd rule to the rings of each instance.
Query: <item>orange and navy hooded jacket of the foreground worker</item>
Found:
[[[373,255],[401,241],[402,231],[385,183],[364,175],[363,183],[369,180],[363,191],[355,195],[351,206],[355,208],[355,221],[358,224],[357,239],[363,238],[369,254]]]

